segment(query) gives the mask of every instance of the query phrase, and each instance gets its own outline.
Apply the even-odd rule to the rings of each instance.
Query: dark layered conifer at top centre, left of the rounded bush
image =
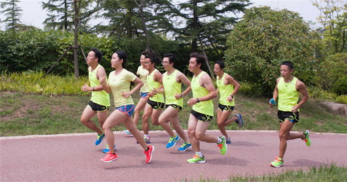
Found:
[[[197,51],[198,40],[223,44],[232,25],[237,22],[237,18],[231,15],[244,12],[249,4],[248,0],[189,0],[179,3],[175,16],[183,18],[185,25],[174,31],[178,40],[191,42],[192,51]]]

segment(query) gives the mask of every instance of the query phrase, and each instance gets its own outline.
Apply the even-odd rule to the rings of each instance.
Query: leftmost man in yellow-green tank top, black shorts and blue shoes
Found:
[[[101,60],[103,53],[98,49],[92,49],[87,56],[88,76],[90,81],[90,86],[85,84],[82,86],[81,90],[83,92],[92,92],[92,98],[89,104],[83,110],[81,115],[81,123],[87,128],[98,133],[96,136],[95,144],[101,143],[105,135],[101,130],[103,128],[103,123],[108,117],[108,110],[110,109],[110,95],[103,90],[103,86],[100,85],[100,80],[106,78],[106,72],[103,66],[99,65],[99,60]],[[101,129],[99,129],[94,122],[90,121],[94,115],[98,116],[98,121]]]

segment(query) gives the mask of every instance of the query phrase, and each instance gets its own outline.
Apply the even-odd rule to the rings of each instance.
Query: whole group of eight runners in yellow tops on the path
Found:
[[[189,59],[189,71],[194,74],[192,81],[178,69],[174,68],[176,57],[172,53],[167,53],[162,59],[162,66],[165,73],[161,74],[155,69],[158,63],[157,56],[151,51],[144,51],[140,57],[140,66],[137,69],[137,77],[132,72],[124,69],[127,56],[124,51],[116,51],[112,54],[111,67],[115,71],[106,76],[105,69],[99,64],[102,53],[98,49],[92,49],[87,56],[87,65],[89,72],[90,86],[85,84],[82,90],[92,92],[90,103],[85,107],[81,116],[81,123],[97,133],[95,144],[100,144],[103,138],[107,140],[107,145],[103,153],[107,154],[101,158],[103,162],[117,160],[115,153],[115,135],[112,133],[112,127],[118,124],[124,124],[128,135],[133,135],[146,155],[146,163],[151,162],[154,147],[149,137],[149,120],[153,125],[160,125],[169,134],[167,149],[176,145],[182,139],[183,145],[178,151],[187,151],[193,148],[195,155],[187,160],[187,163],[205,163],[205,156],[200,149],[200,141],[216,143],[221,154],[226,154],[227,144],[230,144],[230,138],[226,133],[225,127],[235,122],[242,127],[244,121],[242,115],[237,113],[230,117],[235,107],[235,94],[240,88],[240,84],[232,76],[224,72],[226,67],[222,61],[214,64],[214,74],[217,75],[217,90],[215,90],[210,76],[203,72],[203,64],[206,63],[205,56],[199,53],[191,53]],[[307,146],[310,146],[310,131],[303,133],[289,133],[295,122],[298,122],[298,108],[302,106],[308,98],[307,90],[303,82],[298,81],[292,76],[293,66],[290,62],[282,63],[281,77],[278,78],[273,99],[270,104],[276,104],[278,97],[278,117],[280,119],[280,154],[276,160],[271,163],[273,167],[283,165],[283,156],[287,147],[287,140],[301,138],[305,140]],[[135,83],[135,87],[130,90],[130,83]],[[187,87],[182,92],[182,83]],[[141,98],[136,107],[131,95],[140,91]],[[193,97],[188,99],[187,105],[192,106],[192,111],[188,120],[188,138],[185,131],[180,126],[178,113],[183,108],[183,97],[192,90]],[[298,102],[298,92],[303,94],[303,99]],[[115,99],[116,110],[108,116],[110,108],[110,97],[112,93]],[[205,132],[208,129],[210,121],[214,116],[214,106],[212,99],[219,94],[219,106],[217,110],[217,124],[221,131],[221,137],[214,137]],[[165,99],[164,99],[165,95]],[[137,129],[140,112],[142,115],[142,130]],[[164,110],[164,111],[163,111]],[[98,116],[99,129],[90,119]],[[151,119],[150,119],[151,118]],[[171,126],[175,129],[174,133]]]

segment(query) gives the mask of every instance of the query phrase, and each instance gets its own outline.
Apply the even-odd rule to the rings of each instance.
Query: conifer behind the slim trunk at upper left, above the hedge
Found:
[[[74,26],[74,0],[47,0],[42,1],[42,8],[48,10],[44,24],[47,28],[72,31]],[[100,10],[99,1],[78,1],[80,31],[88,32],[87,23],[93,15]]]

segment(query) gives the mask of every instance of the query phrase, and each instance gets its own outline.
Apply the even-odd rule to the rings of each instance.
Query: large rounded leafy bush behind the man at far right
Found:
[[[279,65],[294,63],[294,75],[310,85],[316,70],[317,35],[298,13],[269,7],[246,10],[228,36],[227,72],[270,95]],[[231,68],[230,68],[231,67]]]

